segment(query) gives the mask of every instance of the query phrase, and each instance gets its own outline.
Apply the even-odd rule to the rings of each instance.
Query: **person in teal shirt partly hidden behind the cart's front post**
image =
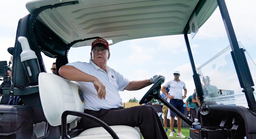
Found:
[[[194,90],[194,93],[196,93],[196,89]],[[192,96],[193,95],[190,95],[187,100],[186,100],[186,107],[187,107],[187,110],[188,112],[190,112],[191,116],[192,116],[192,120],[193,120],[193,123],[195,122],[195,118],[196,118],[196,104],[192,102]],[[190,107],[188,107],[188,105],[190,105]]]

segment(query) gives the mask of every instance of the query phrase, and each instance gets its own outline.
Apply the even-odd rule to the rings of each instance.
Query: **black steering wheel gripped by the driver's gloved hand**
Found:
[[[142,105],[151,101],[158,92],[161,90],[161,82],[164,80],[164,77],[159,78],[156,83],[145,93],[145,95],[140,100],[139,104]]]

